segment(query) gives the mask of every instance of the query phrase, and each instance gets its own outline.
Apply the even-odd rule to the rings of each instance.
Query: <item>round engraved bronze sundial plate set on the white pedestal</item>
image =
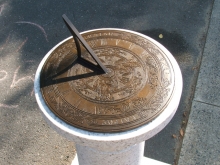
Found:
[[[120,29],[83,33],[100,66],[73,36],[52,51],[40,78],[44,100],[60,119],[83,130],[121,132],[150,122],[169,104],[173,68],[152,40]]]

